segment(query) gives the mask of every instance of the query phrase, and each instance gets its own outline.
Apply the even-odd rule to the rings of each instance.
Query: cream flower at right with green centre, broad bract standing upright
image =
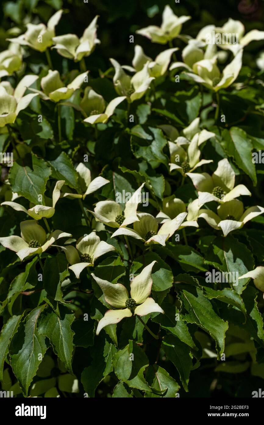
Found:
[[[226,158],[218,162],[217,169],[210,176],[208,173],[186,173],[198,190],[199,205],[217,201],[220,204],[238,198],[240,195],[251,196],[244,184],[235,186],[235,173]]]

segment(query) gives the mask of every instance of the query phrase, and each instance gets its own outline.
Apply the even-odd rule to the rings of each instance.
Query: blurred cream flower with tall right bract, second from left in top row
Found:
[[[53,37],[53,42],[58,53],[79,62],[83,57],[89,56],[100,40],[97,38],[97,19],[99,15],[94,17],[90,25],[84,30],[83,36],[79,39],[75,34],[65,34]]]

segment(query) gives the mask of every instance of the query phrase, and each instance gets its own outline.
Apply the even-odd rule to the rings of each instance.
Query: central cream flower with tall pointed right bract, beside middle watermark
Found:
[[[143,183],[136,192],[133,193],[129,201],[126,202],[124,214],[121,206],[112,200],[97,202],[94,211],[89,212],[94,215],[96,221],[100,221],[110,227],[125,227],[128,226],[128,224],[139,221],[136,210],[144,184],[145,183]]]

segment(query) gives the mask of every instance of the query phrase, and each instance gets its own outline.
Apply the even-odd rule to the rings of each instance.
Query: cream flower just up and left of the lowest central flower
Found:
[[[80,278],[80,273],[85,267],[94,265],[94,261],[106,254],[106,252],[114,251],[113,245],[107,244],[105,241],[100,241],[99,236],[93,230],[89,235],[82,236],[74,246],[60,246],[65,252],[67,260],[71,264],[69,269],[73,271],[76,278]]]

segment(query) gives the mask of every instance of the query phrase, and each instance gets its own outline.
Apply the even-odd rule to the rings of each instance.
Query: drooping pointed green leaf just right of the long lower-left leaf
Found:
[[[74,320],[75,315],[64,307],[60,309],[60,317],[52,309],[47,309],[43,312],[39,321],[39,333],[49,338],[54,353],[71,374],[74,335],[71,324]]]

